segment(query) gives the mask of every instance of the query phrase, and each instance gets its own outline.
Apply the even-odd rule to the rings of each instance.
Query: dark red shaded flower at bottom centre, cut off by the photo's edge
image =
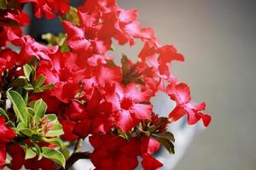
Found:
[[[129,141],[110,134],[95,134],[89,138],[94,151],[90,160],[101,170],[133,170],[137,167],[140,143],[137,139]]]

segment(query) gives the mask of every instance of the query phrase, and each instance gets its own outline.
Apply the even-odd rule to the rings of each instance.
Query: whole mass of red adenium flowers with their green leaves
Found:
[[[30,22],[25,3],[33,4],[37,18],[57,15],[65,33],[43,35],[48,44],[23,35],[20,27]],[[0,169],[67,169],[84,157],[101,170],[140,163],[159,169],[154,152],[163,146],[174,153],[168,124],[187,115],[189,124],[202,120],[208,126],[205,103],[191,103],[189,86],[170,71],[183,55],[161,45],[137,16],[115,0],[86,0],[79,8],[67,0],[0,0]],[[137,40],[143,42],[137,61],[124,54],[118,65],[109,53],[113,41],[132,47]],[[177,104],[161,113],[166,117],[150,102],[159,92]],[[87,137],[94,150],[79,152]],[[66,143],[77,143],[73,153]]]

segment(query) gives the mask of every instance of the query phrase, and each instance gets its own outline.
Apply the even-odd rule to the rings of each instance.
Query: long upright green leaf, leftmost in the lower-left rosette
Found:
[[[7,96],[13,104],[13,108],[16,116],[18,117],[20,122],[24,122],[24,124],[28,125],[28,111],[26,108],[26,102],[21,97],[21,95],[13,90],[7,91]]]

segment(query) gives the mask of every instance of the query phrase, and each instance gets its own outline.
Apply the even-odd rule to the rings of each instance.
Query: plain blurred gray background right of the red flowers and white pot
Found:
[[[172,71],[206,101],[212,124],[195,136],[177,170],[256,169],[256,3],[236,0],[119,0],[172,43]],[[137,51],[129,51],[130,55]]]

